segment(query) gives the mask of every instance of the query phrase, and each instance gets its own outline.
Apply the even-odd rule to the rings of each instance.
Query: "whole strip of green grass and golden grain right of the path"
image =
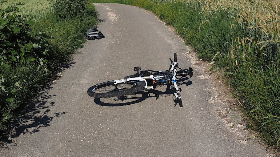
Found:
[[[278,0],[130,0],[127,4],[131,3],[173,25],[200,58],[226,69],[248,126],[280,150]]]

